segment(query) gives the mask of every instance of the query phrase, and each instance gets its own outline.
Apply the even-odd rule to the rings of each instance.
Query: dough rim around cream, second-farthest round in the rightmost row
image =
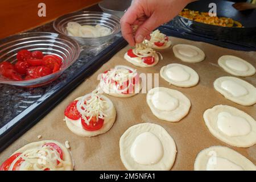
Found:
[[[231,93],[221,88],[221,82],[225,80],[237,82],[237,84],[240,84],[241,86],[246,88],[248,94],[245,96],[234,97]],[[213,82],[213,86],[214,89],[220,92],[226,99],[236,102],[237,104],[243,106],[251,106],[256,103],[256,88],[253,85],[249,84],[249,82],[243,81],[240,78],[232,76],[220,77]]]

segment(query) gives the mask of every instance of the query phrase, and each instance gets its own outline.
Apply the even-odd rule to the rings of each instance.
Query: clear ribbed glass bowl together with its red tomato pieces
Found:
[[[30,32],[0,40],[0,84],[38,87],[56,80],[80,54],[67,36]]]

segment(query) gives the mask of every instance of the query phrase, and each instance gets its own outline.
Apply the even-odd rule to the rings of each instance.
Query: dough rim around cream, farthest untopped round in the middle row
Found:
[[[182,55],[182,54],[179,53],[180,48],[191,48],[191,49],[194,49],[195,51],[197,51],[198,54],[196,56],[193,56],[193,57]],[[188,45],[188,44],[177,44],[174,47],[172,47],[172,49],[174,51],[175,57],[177,57],[181,61],[184,61],[184,62],[187,62],[187,63],[199,63],[199,62],[201,62],[205,59],[204,52],[196,46],[191,46],[191,45]]]

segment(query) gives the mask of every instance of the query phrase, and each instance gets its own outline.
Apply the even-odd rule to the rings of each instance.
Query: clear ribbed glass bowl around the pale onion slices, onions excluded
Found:
[[[83,38],[79,36],[69,36],[67,31],[68,22],[77,22],[81,25],[90,25],[96,26],[96,24],[100,24],[101,26],[105,26],[110,28],[112,34],[107,36],[99,36],[94,38]],[[117,35],[121,29],[120,19],[118,16],[102,13],[97,11],[80,11],[76,13],[67,14],[57,18],[53,22],[53,27],[60,34],[66,35],[69,38],[77,40],[81,44],[81,46],[102,46],[109,42],[109,40],[113,39],[115,35]]]

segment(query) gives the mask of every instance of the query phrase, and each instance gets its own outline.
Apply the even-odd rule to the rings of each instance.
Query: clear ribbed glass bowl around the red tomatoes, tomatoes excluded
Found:
[[[38,87],[46,85],[61,75],[80,54],[79,44],[67,36],[50,32],[30,32],[9,36],[0,40],[0,63],[9,61],[16,63],[16,55],[20,49],[28,51],[42,51],[44,55],[57,55],[63,59],[60,71],[40,78],[24,81],[13,81],[0,75],[0,84],[24,87]]]

